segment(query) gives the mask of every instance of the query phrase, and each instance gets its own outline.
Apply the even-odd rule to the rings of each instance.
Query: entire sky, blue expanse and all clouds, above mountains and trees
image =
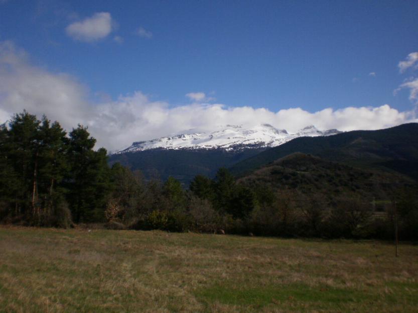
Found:
[[[0,0],[0,123],[24,109],[97,146],[269,123],[416,122],[417,1]]]

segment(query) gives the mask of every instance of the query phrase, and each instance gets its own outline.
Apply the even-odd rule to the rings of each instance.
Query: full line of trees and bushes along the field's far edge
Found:
[[[46,116],[15,114],[0,126],[0,220],[33,226],[101,223],[112,229],[252,233],[277,236],[418,239],[416,189],[399,192],[376,214],[360,198],[245,185],[225,168],[189,188],[173,177],[145,180],[119,163],[78,125],[68,134]],[[394,207],[396,206],[396,211]]]

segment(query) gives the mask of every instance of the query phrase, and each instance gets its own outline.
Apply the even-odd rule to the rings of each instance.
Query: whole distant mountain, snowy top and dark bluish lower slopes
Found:
[[[299,136],[328,136],[337,130],[322,132],[308,126],[297,133],[276,129],[269,124],[254,127],[227,125],[209,133],[189,132],[149,141],[134,142],[109,156],[132,170],[141,170],[147,179],[173,176],[188,184],[196,175],[214,176],[220,167],[254,156],[268,147],[281,145]]]

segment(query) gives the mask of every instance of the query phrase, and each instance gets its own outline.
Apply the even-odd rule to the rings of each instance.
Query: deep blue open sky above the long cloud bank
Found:
[[[394,91],[416,77],[415,63],[398,67],[418,51],[416,17],[416,1],[0,0],[0,42],[27,71],[64,75],[87,106],[141,92],[165,108],[407,112],[414,85]]]

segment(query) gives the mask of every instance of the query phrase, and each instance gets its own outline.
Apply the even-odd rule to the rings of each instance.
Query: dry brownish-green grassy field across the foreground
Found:
[[[0,227],[0,312],[418,311],[418,246]]]

